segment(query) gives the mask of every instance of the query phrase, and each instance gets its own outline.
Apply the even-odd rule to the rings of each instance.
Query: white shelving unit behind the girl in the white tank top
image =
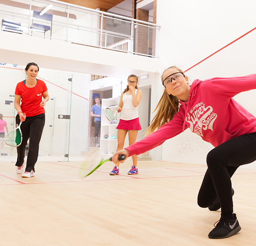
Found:
[[[114,111],[118,107],[120,101],[120,96],[116,98],[102,98],[101,100],[101,134],[100,134],[100,157],[101,158],[109,158],[112,156],[113,153],[116,152],[117,148],[117,132],[116,129],[120,114],[115,114],[115,120],[117,121],[116,124],[111,124],[110,121],[104,115],[105,108],[111,108]],[[108,139],[104,139],[104,136],[108,135]],[[116,137],[115,139],[112,139]]]

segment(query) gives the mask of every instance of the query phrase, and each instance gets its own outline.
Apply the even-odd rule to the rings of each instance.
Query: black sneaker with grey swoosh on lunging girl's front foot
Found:
[[[234,215],[234,219],[226,219],[222,216],[220,217],[220,220],[214,223],[217,223],[215,228],[209,233],[208,237],[212,239],[218,239],[218,238],[226,238],[231,237],[235,235],[237,232],[241,230],[241,226],[238,223],[238,219],[236,217],[236,214]]]

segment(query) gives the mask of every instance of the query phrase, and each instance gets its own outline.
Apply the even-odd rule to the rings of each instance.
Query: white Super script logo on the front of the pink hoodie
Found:
[[[186,121],[190,124],[189,129],[192,132],[203,137],[203,130],[210,129],[213,131],[212,126],[217,118],[217,114],[213,112],[211,106],[205,107],[203,103],[195,110],[190,110],[189,113],[187,113],[188,117],[186,117]]]

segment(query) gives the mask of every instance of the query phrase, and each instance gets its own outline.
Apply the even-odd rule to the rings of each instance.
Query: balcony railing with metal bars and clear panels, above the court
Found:
[[[47,12],[53,14],[52,22],[45,20],[37,20],[37,22],[41,26],[51,26],[51,32],[42,32],[42,30],[36,32],[37,30],[30,28],[32,22],[36,22],[33,20],[33,11],[44,9],[49,4],[53,5]],[[0,3],[0,19],[21,23],[22,32],[15,29],[7,30],[4,26],[1,27],[1,30],[156,57],[155,54],[152,54],[152,47],[149,45],[155,41],[154,35],[160,30],[159,25],[57,0],[27,0],[28,5],[29,9],[23,9]],[[141,28],[144,35],[141,35],[137,28]],[[141,38],[142,36],[144,39]],[[143,49],[138,48],[136,40],[137,43],[138,40],[140,41],[140,46]],[[124,45],[125,43],[127,45]]]

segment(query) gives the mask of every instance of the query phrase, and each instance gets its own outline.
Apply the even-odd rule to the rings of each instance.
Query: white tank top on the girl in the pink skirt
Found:
[[[137,89],[135,90],[135,95],[137,96]],[[123,94],[123,107],[121,112],[121,120],[129,121],[138,118],[138,106],[134,107],[132,103],[132,95]]]

